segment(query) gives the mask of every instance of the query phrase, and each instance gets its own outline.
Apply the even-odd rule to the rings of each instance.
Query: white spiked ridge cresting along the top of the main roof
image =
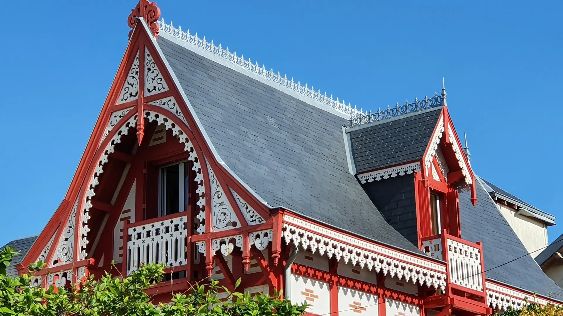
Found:
[[[346,105],[346,102],[342,100],[340,102],[338,98],[334,100],[332,95],[327,96],[325,92],[322,94],[320,89],[315,91],[314,87],[309,88],[307,84],[301,85],[300,81],[294,82],[293,78],[288,79],[287,75],[282,76],[278,73],[274,73],[274,70],[266,70],[265,66],[258,66],[258,62],[252,64],[251,60],[245,60],[244,56],[236,55],[236,51],[231,53],[229,47],[223,49],[221,44],[215,46],[213,41],[207,42],[205,37],[199,38],[198,34],[190,34],[190,30],[182,31],[182,28],[175,28],[170,24],[166,24],[164,19],[159,20],[157,24],[160,27],[159,36],[171,40],[176,44],[183,46],[190,51],[198,53],[209,60],[215,61],[218,64],[229,67],[239,73],[245,74],[259,82],[270,85],[270,87],[278,89],[284,93],[287,93],[299,100],[309,103],[312,106],[318,107],[325,111],[331,112],[342,118],[350,119],[351,117],[361,116],[364,113],[360,110],[356,110],[352,107],[350,103]]]

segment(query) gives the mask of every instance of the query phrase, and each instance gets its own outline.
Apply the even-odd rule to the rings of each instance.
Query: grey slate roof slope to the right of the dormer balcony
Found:
[[[476,189],[475,207],[471,204],[470,192],[459,194],[459,213],[463,239],[483,242],[486,277],[563,301],[563,289],[547,277],[528,254],[479,180]]]

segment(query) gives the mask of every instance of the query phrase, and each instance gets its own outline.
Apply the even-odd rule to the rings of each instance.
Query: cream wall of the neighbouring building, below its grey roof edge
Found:
[[[528,252],[535,251],[531,256],[539,255],[542,251],[536,250],[549,245],[547,242],[547,227],[543,222],[529,216],[516,214],[515,209],[511,209],[506,205],[497,203],[497,207],[501,210],[502,215],[506,218],[516,236],[520,238],[526,250]]]

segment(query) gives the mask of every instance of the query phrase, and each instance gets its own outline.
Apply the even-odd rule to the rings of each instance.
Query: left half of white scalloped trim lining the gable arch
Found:
[[[94,189],[100,183],[99,177],[104,172],[104,165],[108,162],[109,155],[115,151],[115,145],[121,142],[121,137],[127,135],[129,133],[129,128],[135,128],[137,126],[137,115],[133,115],[130,119],[128,119],[119,129],[111,140],[109,141],[108,145],[106,145],[105,150],[100,155],[100,158],[97,160],[96,168],[90,178],[90,182],[88,182],[86,197],[84,198],[84,202],[82,205],[82,214],[81,214],[81,225],[80,225],[80,249],[78,252],[79,260],[86,259],[86,245],[88,244],[88,232],[90,232],[90,228],[88,228],[88,219],[90,219],[90,208],[92,207],[92,197],[96,195]]]

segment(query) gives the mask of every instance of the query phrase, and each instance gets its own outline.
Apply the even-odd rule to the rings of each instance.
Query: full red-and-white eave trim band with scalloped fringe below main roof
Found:
[[[291,215],[283,215],[282,237],[286,244],[293,242],[303,250],[319,251],[321,256],[334,256],[337,260],[343,259],[346,264],[359,265],[360,268],[367,266],[369,270],[375,268],[376,272],[382,271],[391,277],[405,278],[405,281],[428,287],[444,290],[446,286],[445,264],[415,258]]]

